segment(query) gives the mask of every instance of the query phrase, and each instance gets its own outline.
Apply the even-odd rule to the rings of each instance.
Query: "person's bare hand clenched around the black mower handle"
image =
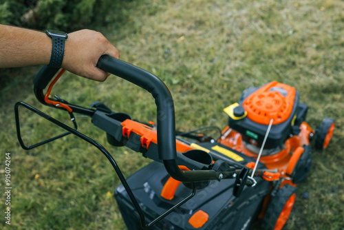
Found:
[[[96,67],[103,54],[120,57],[118,50],[100,32],[78,30],[68,34],[62,67],[87,79],[105,81],[110,74]]]

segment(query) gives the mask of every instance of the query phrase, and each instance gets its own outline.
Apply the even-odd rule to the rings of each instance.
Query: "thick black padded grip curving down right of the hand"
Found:
[[[157,76],[112,56],[100,57],[97,67],[142,87],[155,98],[157,106],[158,154],[161,160],[177,157],[174,103],[169,88]]]

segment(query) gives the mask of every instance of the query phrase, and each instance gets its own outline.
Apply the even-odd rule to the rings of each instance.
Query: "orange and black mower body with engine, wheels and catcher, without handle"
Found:
[[[184,208],[179,213],[172,213],[156,229],[248,229],[257,219],[262,229],[282,229],[294,205],[297,184],[305,180],[312,165],[311,140],[315,138],[316,147],[325,149],[334,130],[331,118],[325,118],[319,129],[312,129],[305,122],[307,111],[308,106],[299,102],[299,92],[289,85],[272,81],[245,90],[237,103],[224,109],[229,118],[220,138],[198,140],[189,147],[206,151],[215,159],[227,158],[253,169],[271,123],[257,167],[262,180],[257,181],[256,191],[250,192],[252,188],[248,187],[239,198],[230,196],[222,200],[223,197],[218,197],[233,187],[204,182],[201,196],[195,201],[196,210]],[[179,148],[181,152],[191,150],[183,145]],[[136,195],[151,215],[178,202],[184,194],[183,189],[188,187],[155,164],[133,174],[128,182],[138,189]],[[115,197],[127,227],[141,229],[122,191],[120,185],[115,190]],[[221,218],[226,222],[220,221]]]

